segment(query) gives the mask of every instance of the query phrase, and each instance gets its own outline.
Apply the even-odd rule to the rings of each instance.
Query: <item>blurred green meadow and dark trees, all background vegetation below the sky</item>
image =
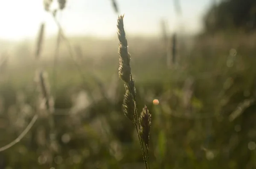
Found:
[[[256,167],[255,9],[253,0],[225,0],[209,9],[204,33],[192,44],[178,34],[173,50],[167,37],[177,57],[171,67],[161,36],[127,37],[138,107],[145,104],[152,114],[151,169]],[[54,64],[55,41],[44,40],[40,62],[30,42],[2,54],[0,146],[20,135],[40,108],[38,68],[48,72],[55,104],[54,126],[49,113],[36,111],[26,136],[0,152],[0,169],[143,168],[137,133],[122,112],[117,37],[70,38],[78,65],[63,43]]]

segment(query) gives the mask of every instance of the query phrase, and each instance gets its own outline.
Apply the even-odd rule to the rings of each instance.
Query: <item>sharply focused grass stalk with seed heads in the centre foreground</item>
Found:
[[[118,16],[117,29],[119,39],[119,77],[125,83],[125,95],[123,109],[125,116],[134,124],[140,141],[140,148],[143,155],[145,169],[149,169],[149,130],[151,127],[151,114],[147,107],[143,108],[141,113],[138,112],[136,101],[136,89],[134,79],[131,74],[130,60],[128,53],[128,43],[125,37],[123,23],[124,15]],[[144,148],[145,146],[145,148]]]

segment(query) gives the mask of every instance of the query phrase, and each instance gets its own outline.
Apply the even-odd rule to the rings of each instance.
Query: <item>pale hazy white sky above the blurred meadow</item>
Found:
[[[160,33],[160,20],[168,20],[169,30],[178,29],[173,0],[116,0],[127,34]],[[185,32],[201,29],[201,17],[212,0],[180,0],[183,16],[179,23]],[[46,33],[52,35],[57,27],[43,9],[43,0],[1,0],[0,39],[34,38],[39,25],[46,22]],[[59,16],[58,16],[59,17]],[[116,18],[111,0],[67,0],[61,14],[61,24],[67,35],[110,37],[116,34]]]

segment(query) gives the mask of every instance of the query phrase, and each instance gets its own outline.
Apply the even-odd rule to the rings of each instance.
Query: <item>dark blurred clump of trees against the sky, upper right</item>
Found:
[[[214,3],[204,16],[205,31],[209,33],[223,30],[255,30],[255,0],[222,0]]]

